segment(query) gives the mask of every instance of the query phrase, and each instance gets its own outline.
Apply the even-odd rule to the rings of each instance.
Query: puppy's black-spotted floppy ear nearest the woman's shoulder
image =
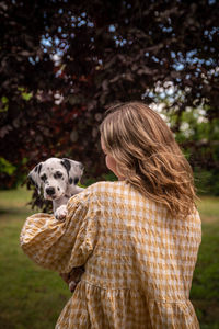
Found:
[[[83,174],[83,164],[81,162],[64,158],[61,164],[66,168],[69,175],[69,184],[78,184]]]

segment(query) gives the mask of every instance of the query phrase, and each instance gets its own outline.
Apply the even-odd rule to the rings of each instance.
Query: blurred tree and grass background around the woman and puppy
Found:
[[[114,180],[99,125],[106,109],[143,101],[194,170],[203,243],[192,302],[219,328],[219,2],[0,1],[0,328],[54,328],[70,297],[33,264],[19,235],[32,206],[28,171],[49,157],[83,162],[82,183]]]

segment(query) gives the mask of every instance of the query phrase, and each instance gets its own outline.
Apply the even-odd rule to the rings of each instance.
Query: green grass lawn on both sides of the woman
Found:
[[[0,191],[0,328],[51,329],[66,302],[68,287],[58,274],[42,270],[21,250],[19,236],[30,191]],[[201,197],[203,242],[191,299],[201,329],[219,328],[219,197]],[[124,328],[125,329],[125,328]],[[178,328],[180,329],[180,328]]]

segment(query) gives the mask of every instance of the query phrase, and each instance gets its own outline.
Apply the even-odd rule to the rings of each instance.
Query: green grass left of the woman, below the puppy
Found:
[[[70,297],[57,273],[35,265],[21,250],[19,237],[31,194],[0,192],[0,328],[51,329]]]

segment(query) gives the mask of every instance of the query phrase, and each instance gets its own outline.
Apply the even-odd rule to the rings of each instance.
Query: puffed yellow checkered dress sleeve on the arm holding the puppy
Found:
[[[97,234],[100,208],[89,192],[71,197],[65,222],[53,215],[30,216],[21,231],[23,251],[38,265],[61,273],[85,264]]]

